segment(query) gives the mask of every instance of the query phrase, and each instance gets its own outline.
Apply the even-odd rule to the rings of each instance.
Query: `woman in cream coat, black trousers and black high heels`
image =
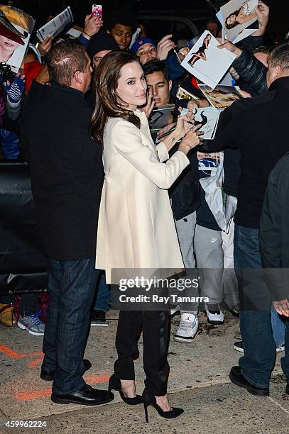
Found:
[[[96,108],[92,135],[104,143],[104,187],[99,211],[96,267],[108,283],[119,283],[126,269],[182,269],[183,262],[167,189],[189,164],[187,152],[200,140],[197,126],[179,118],[177,128],[155,146],[146,114],[146,81],[136,57],[128,52],[105,56],[95,76]],[[169,158],[168,150],[182,138]],[[167,160],[165,162],[165,160]],[[118,269],[114,274],[113,269]],[[123,276],[119,270],[124,270]],[[139,273],[138,273],[139,276]],[[143,396],[136,395],[133,359],[143,330]],[[168,383],[169,316],[165,311],[121,311],[116,333],[118,360],[109,389],[120,391],[127,404],[144,403],[160,416],[175,418]]]

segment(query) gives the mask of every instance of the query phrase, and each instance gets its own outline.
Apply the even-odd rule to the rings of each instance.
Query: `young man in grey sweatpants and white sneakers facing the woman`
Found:
[[[168,78],[168,70],[164,63],[156,59],[150,60],[143,65],[143,71],[156,107],[168,104],[172,82]],[[178,101],[175,118],[180,114],[178,107],[186,107],[187,104],[187,100]],[[170,121],[173,120],[173,116],[171,116]],[[207,206],[205,192],[200,188],[197,154],[190,152],[188,157],[190,165],[169,189],[182,258],[188,273],[195,269],[195,257],[197,266],[200,268],[205,267],[204,263],[206,263],[207,267],[222,270],[221,230]],[[202,194],[202,200],[200,194]],[[199,210],[201,212],[198,214]],[[222,301],[222,272],[219,273],[219,276],[217,274],[214,273],[209,281],[206,275],[202,284],[202,295],[209,296],[211,304],[216,301],[214,306],[210,308],[208,305],[206,308],[209,321],[223,323],[224,316],[215,306]],[[190,294],[186,294],[187,296],[198,296],[197,289],[190,289],[189,292]],[[174,339],[178,342],[192,343],[195,339],[198,331],[198,308],[199,303],[197,301],[194,304],[180,304],[181,321],[174,335]]]

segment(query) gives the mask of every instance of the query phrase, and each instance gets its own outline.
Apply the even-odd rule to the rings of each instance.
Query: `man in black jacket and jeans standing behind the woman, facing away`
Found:
[[[97,405],[107,401],[107,391],[82,378],[90,365],[82,357],[98,277],[94,256],[104,178],[102,146],[90,137],[91,109],[84,100],[92,68],[84,45],[68,40],[50,51],[48,69],[51,87],[33,83],[21,121],[48,257],[50,305],[40,377],[54,379],[51,399],[58,404]]]

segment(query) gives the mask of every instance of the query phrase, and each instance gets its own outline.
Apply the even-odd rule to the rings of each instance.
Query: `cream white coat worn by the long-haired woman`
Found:
[[[112,269],[184,267],[167,190],[189,160],[180,151],[168,159],[165,145],[154,145],[145,113],[134,113],[140,129],[109,118],[104,130],[96,268],[104,269],[107,283],[114,284],[119,272],[114,278]]]

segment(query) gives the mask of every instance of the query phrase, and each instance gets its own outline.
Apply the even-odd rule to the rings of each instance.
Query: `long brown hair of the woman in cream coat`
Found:
[[[108,118],[123,118],[138,128],[141,126],[138,116],[121,106],[116,92],[121,68],[131,62],[138,62],[138,58],[129,52],[113,51],[99,63],[94,76],[95,109],[91,126],[92,138],[97,142],[103,142]]]

